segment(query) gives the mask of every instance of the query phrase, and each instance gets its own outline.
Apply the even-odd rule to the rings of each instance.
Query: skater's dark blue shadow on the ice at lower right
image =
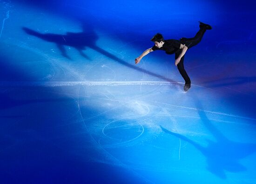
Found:
[[[199,99],[195,98],[197,109],[202,109]],[[245,166],[239,163],[243,159],[256,151],[256,144],[234,142],[226,138],[219,130],[216,129],[207,118],[203,110],[197,111],[203,125],[214,136],[215,141],[208,140],[208,146],[203,147],[195,141],[165,128],[162,131],[171,134],[177,138],[187,141],[206,157],[207,169],[216,176],[225,179],[226,171],[240,172],[246,171]]]

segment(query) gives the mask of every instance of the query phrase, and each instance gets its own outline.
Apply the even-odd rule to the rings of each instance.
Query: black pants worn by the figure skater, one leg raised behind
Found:
[[[181,38],[180,41],[183,45],[187,46],[188,49],[190,49],[192,46],[197,45],[201,41],[205,31],[206,31],[205,28],[200,28],[200,30],[195,34],[195,37],[189,38],[189,39],[188,38]],[[179,49],[179,51],[175,53],[175,59],[177,59],[181,53],[182,53],[182,49]],[[185,71],[184,64],[183,64],[184,63],[184,56],[181,58],[177,67],[178,67],[178,70],[181,73],[183,79],[185,80],[185,84],[190,84],[191,81],[189,79],[189,75]]]

